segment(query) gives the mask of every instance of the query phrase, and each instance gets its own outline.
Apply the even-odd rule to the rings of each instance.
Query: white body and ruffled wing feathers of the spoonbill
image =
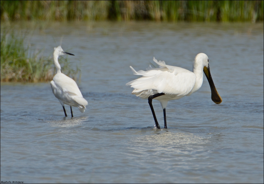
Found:
[[[159,68],[150,68],[148,71],[135,71],[135,75],[141,75],[139,79],[130,81],[126,85],[134,88],[132,94],[142,98],[155,93],[165,93],[174,96],[185,96],[194,87],[196,75],[186,69],[166,65],[164,61],[153,61],[159,65]]]

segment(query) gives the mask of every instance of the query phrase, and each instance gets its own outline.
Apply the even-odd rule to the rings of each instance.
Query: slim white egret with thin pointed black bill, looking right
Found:
[[[51,89],[56,98],[60,101],[60,104],[63,107],[65,116],[67,117],[64,104],[70,105],[71,117],[73,117],[72,106],[78,107],[79,110],[83,113],[86,109],[88,102],[83,98],[83,95],[78,88],[76,82],[68,77],[67,75],[61,73],[60,64],[58,62],[58,57],[64,54],[73,55],[68,52],[63,52],[61,46],[54,48],[54,64],[56,67],[56,75],[51,81]]]

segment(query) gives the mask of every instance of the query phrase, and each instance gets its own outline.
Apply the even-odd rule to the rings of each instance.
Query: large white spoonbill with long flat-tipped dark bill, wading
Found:
[[[222,102],[222,98],[213,84],[209,69],[209,59],[206,54],[200,53],[196,55],[193,72],[180,67],[166,65],[164,61],[158,62],[155,57],[153,61],[159,65],[159,68],[150,67],[147,71],[135,71],[130,66],[135,75],[141,75],[142,77],[130,81],[126,85],[131,85],[134,88],[132,94],[141,98],[148,98],[149,106],[158,129],[160,129],[160,126],[152,106],[152,99],[159,100],[161,103],[164,114],[164,128],[167,128],[166,107],[168,101],[189,96],[191,93],[197,91],[203,83],[203,71],[210,84],[211,99],[216,104]]]

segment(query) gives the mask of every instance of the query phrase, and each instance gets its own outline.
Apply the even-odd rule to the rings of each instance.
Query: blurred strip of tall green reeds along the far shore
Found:
[[[263,1],[1,1],[1,20],[263,21]]]

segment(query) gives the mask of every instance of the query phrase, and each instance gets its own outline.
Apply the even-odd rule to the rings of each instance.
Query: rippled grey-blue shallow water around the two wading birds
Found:
[[[32,49],[47,57],[63,36],[88,107],[64,117],[49,83],[1,83],[1,181],[263,183],[263,23],[12,26],[30,28]],[[223,102],[211,101],[204,78],[196,93],[169,101],[168,129],[154,130],[147,100],[125,86],[137,78],[129,66],[144,70],[155,57],[192,70],[200,52]]]

